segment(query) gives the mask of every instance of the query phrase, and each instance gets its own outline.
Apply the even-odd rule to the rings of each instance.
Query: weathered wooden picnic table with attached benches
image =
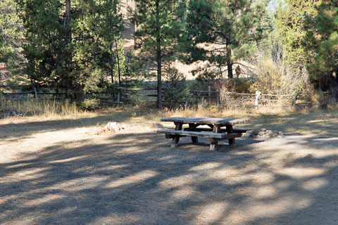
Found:
[[[247,129],[234,129],[235,124],[249,123],[248,119],[225,118],[195,118],[195,117],[170,117],[161,119],[162,122],[174,122],[175,130],[159,129],[157,132],[165,134],[166,139],[173,139],[171,146],[176,147],[182,136],[191,136],[192,143],[198,143],[198,137],[206,137],[210,142],[210,150],[217,150],[218,141],[229,140],[229,144],[235,143],[234,139],[242,136]],[[189,127],[183,128],[183,124]],[[208,127],[199,127],[207,125]],[[222,129],[225,127],[225,129]]]

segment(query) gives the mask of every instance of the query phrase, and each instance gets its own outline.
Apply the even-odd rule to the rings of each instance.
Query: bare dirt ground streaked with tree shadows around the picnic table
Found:
[[[170,148],[153,121],[96,135],[114,118],[4,120],[0,224],[338,224],[338,122],[291,118],[243,126],[284,124],[284,139],[217,152]]]

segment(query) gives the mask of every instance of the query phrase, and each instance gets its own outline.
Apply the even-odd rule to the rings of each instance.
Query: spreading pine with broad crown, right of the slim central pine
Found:
[[[256,51],[266,1],[191,0],[187,15],[189,61],[207,60],[218,75],[233,77],[233,65]],[[241,65],[242,66],[242,65]],[[226,69],[225,69],[226,67]]]

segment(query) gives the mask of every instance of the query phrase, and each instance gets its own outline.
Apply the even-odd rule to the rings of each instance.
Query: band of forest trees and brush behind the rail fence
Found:
[[[338,98],[338,1],[4,0],[0,12],[2,84],[82,103],[156,80],[158,108],[208,85]]]

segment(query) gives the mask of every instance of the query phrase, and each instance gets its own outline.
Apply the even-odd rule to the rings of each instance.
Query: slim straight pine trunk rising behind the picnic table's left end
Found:
[[[157,52],[157,108],[162,109],[162,52],[161,52],[161,32],[160,32],[160,10],[159,1],[156,1],[156,52]]]

